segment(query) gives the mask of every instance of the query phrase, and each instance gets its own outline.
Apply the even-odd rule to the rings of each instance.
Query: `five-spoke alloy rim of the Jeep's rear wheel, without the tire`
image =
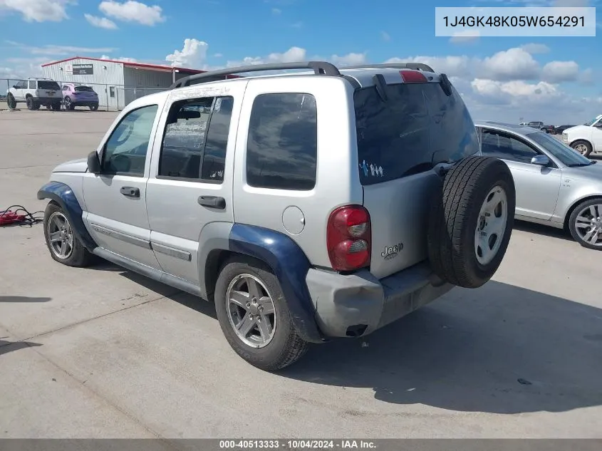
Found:
[[[266,286],[251,274],[239,274],[228,285],[226,311],[243,343],[267,346],[276,332],[276,309]]]

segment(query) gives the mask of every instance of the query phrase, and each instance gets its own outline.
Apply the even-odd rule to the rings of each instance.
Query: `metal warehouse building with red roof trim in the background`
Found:
[[[42,65],[43,77],[88,85],[98,93],[100,108],[122,110],[132,100],[165,90],[178,79],[202,73],[195,69],[75,56]],[[217,80],[224,76],[216,77]]]

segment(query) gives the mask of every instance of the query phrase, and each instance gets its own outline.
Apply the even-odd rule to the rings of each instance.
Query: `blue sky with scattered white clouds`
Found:
[[[427,63],[474,120],[579,124],[602,113],[596,37],[437,37],[444,1],[0,0],[0,78],[71,56],[197,69],[323,59]],[[602,0],[455,0],[450,6],[602,6]],[[596,10],[599,13],[600,10]]]

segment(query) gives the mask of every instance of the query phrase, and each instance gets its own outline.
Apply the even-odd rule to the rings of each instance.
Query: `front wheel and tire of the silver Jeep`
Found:
[[[83,268],[92,261],[92,254],[81,244],[68,215],[56,203],[50,202],[44,212],[44,238],[50,256],[67,266]]]

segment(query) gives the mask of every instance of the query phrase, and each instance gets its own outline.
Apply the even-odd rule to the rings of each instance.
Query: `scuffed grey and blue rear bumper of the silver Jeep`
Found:
[[[365,336],[450,291],[427,263],[385,279],[369,271],[344,276],[310,269],[306,283],[316,308],[316,322],[328,337]]]

